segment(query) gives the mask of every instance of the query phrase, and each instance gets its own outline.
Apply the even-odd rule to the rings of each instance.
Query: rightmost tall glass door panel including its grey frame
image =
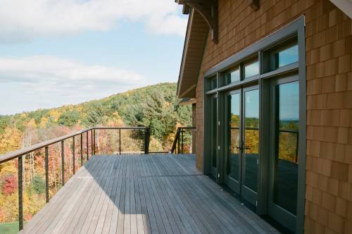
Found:
[[[272,85],[273,142],[270,163],[269,212],[279,223],[294,231],[298,188],[298,81],[275,80]]]

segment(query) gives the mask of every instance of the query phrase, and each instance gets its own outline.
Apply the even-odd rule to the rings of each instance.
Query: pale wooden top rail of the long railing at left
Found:
[[[32,146],[30,147],[25,147],[23,149],[18,149],[18,150],[15,150],[13,152],[8,152],[7,154],[3,154],[3,155],[0,155],[0,164],[6,162],[6,161],[9,161],[11,159],[16,159],[20,156],[23,156],[25,154],[30,154],[31,152],[34,152],[38,149],[42,149],[44,147],[48,147],[49,145],[51,144],[56,144],[58,142],[61,142],[63,140],[67,140],[71,137],[75,137],[77,135],[81,135],[82,133],[87,133],[88,131],[90,130],[93,130],[93,129],[132,129],[132,130],[135,130],[135,129],[146,129],[146,127],[94,127],[94,128],[85,128],[83,130],[80,130],[78,132],[75,132],[75,133],[70,133],[68,135],[64,135],[62,137],[57,137],[57,138],[54,138],[54,139],[51,139],[51,140],[47,140],[45,142],[40,142],[38,144],[33,144]]]

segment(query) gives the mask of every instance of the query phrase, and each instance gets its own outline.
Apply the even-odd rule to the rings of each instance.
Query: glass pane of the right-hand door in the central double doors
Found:
[[[254,192],[258,183],[259,90],[244,92],[244,185]]]

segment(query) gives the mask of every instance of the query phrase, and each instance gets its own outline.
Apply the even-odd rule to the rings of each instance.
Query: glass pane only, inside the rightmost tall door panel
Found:
[[[274,202],[296,214],[298,185],[298,82],[276,87],[277,137],[275,154]]]

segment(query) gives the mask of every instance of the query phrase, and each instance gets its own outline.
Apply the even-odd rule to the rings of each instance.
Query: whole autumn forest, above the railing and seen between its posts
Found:
[[[100,100],[55,109],[39,109],[0,116],[0,155],[38,142],[53,139],[92,126],[146,126],[151,129],[149,150],[168,152],[179,126],[191,126],[190,106],[180,106],[175,83],[161,83],[112,95]],[[116,152],[116,135],[99,130],[97,150],[101,154]],[[139,151],[141,139],[132,131],[122,133],[123,149]],[[90,137],[90,136],[89,136]],[[84,145],[89,144],[83,137]],[[79,140],[65,141],[65,178],[73,175],[84,161],[80,159]],[[76,154],[73,155],[73,147]],[[88,148],[88,149],[89,149]],[[87,149],[83,149],[87,154]],[[61,145],[49,147],[49,194],[61,187]],[[75,156],[75,165],[73,165]],[[24,220],[28,221],[45,204],[44,150],[23,156]],[[0,233],[18,230],[18,160],[0,164]]]

